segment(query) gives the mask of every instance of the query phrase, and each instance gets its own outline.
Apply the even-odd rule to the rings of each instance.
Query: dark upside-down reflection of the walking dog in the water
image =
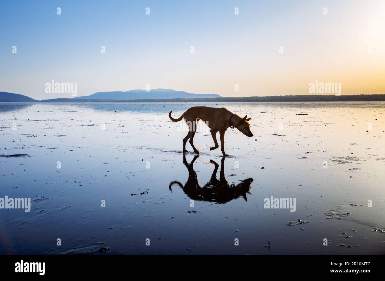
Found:
[[[170,182],[169,189],[172,191],[172,186],[177,184],[182,188],[184,193],[187,194],[193,200],[201,200],[207,202],[216,202],[216,203],[226,203],[233,199],[236,199],[240,196],[247,201],[246,193],[249,193],[251,188],[251,183],[253,182],[252,178],[244,179],[239,182],[239,184],[229,184],[224,177],[224,159],[221,160],[221,172],[219,173],[219,180],[216,177],[219,165],[210,160],[210,163],[214,164],[214,171],[211,175],[210,180],[204,186],[200,186],[198,183],[198,176],[194,171],[193,165],[194,161],[198,158],[198,155],[192,159],[191,163],[188,164],[186,161],[186,155],[183,155],[183,164],[187,167],[189,171],[189,178],[187,179],[184,186],[179,181]]]

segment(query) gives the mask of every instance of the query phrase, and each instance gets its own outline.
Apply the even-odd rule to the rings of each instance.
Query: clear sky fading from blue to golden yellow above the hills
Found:
[[[1,1],[0,91],[71,97],[47,94],[52,80],[79,96],[297,95],[316,80],[385,94],[385,1]]]

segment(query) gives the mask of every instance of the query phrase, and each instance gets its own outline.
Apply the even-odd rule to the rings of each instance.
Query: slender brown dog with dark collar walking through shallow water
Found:
[[[199,154],[199,151],[195,148],[192,142],[196,132],[196,124],[199,120],[204,121],[210,128],[211,136],[214,140],[214,146],[210,147],[210,150],[217,149],[219,147],[216,140],[216,133],[219,132],[219,136],[221,137],[221,150],[223,156],[228,156],[224,152],[224,133],[229,127],[231,127],[233,130],[234,128],[237,128],[248,137],[253,136],[253,133],[250,131],[250,124],[248,122],[251,118],[247,118],[247,116],[241,118],[238,115],[233,114],[231,111],[225,109],[224,107],[216,108],[207,106],[194,106],[187,109],[178,119],[172,118],[171,112],[172,110],[169,113],[169,117],[172,121],[178,122],[183,118],[186,124],[189,126],[189,132],[183,139],[183,152],[187,152],[186,142],[190,139],[189,142],[192,146],[192,149],[194,149],[196,154]]]

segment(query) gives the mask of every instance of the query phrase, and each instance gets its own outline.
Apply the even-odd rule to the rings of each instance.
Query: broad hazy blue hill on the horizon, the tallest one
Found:
[[[194,98],[216,98],[221,97],[217,94],[192,94],[183,91],[171,89],[151,89],[146,90],[129,90],[126,92],[97,92],[92,95],[83,97],[75,97],[74,99],[98,99],[98,100],[135,100],[135,99],[194,99]]]

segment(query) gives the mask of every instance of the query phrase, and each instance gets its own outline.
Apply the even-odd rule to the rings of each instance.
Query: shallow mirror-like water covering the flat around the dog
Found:
[[[222,159],[198,126],[201,156],[187,143],[184,161],[183,121],[168,112],[194,105],[247,114],[254,137],[229,129]],[[0,209],[0,253],[384,254],[384,109],[0,103],[0,197],[32,200],[30,212]],[[296,211],[265,209],[270,196],[295,198]]]

